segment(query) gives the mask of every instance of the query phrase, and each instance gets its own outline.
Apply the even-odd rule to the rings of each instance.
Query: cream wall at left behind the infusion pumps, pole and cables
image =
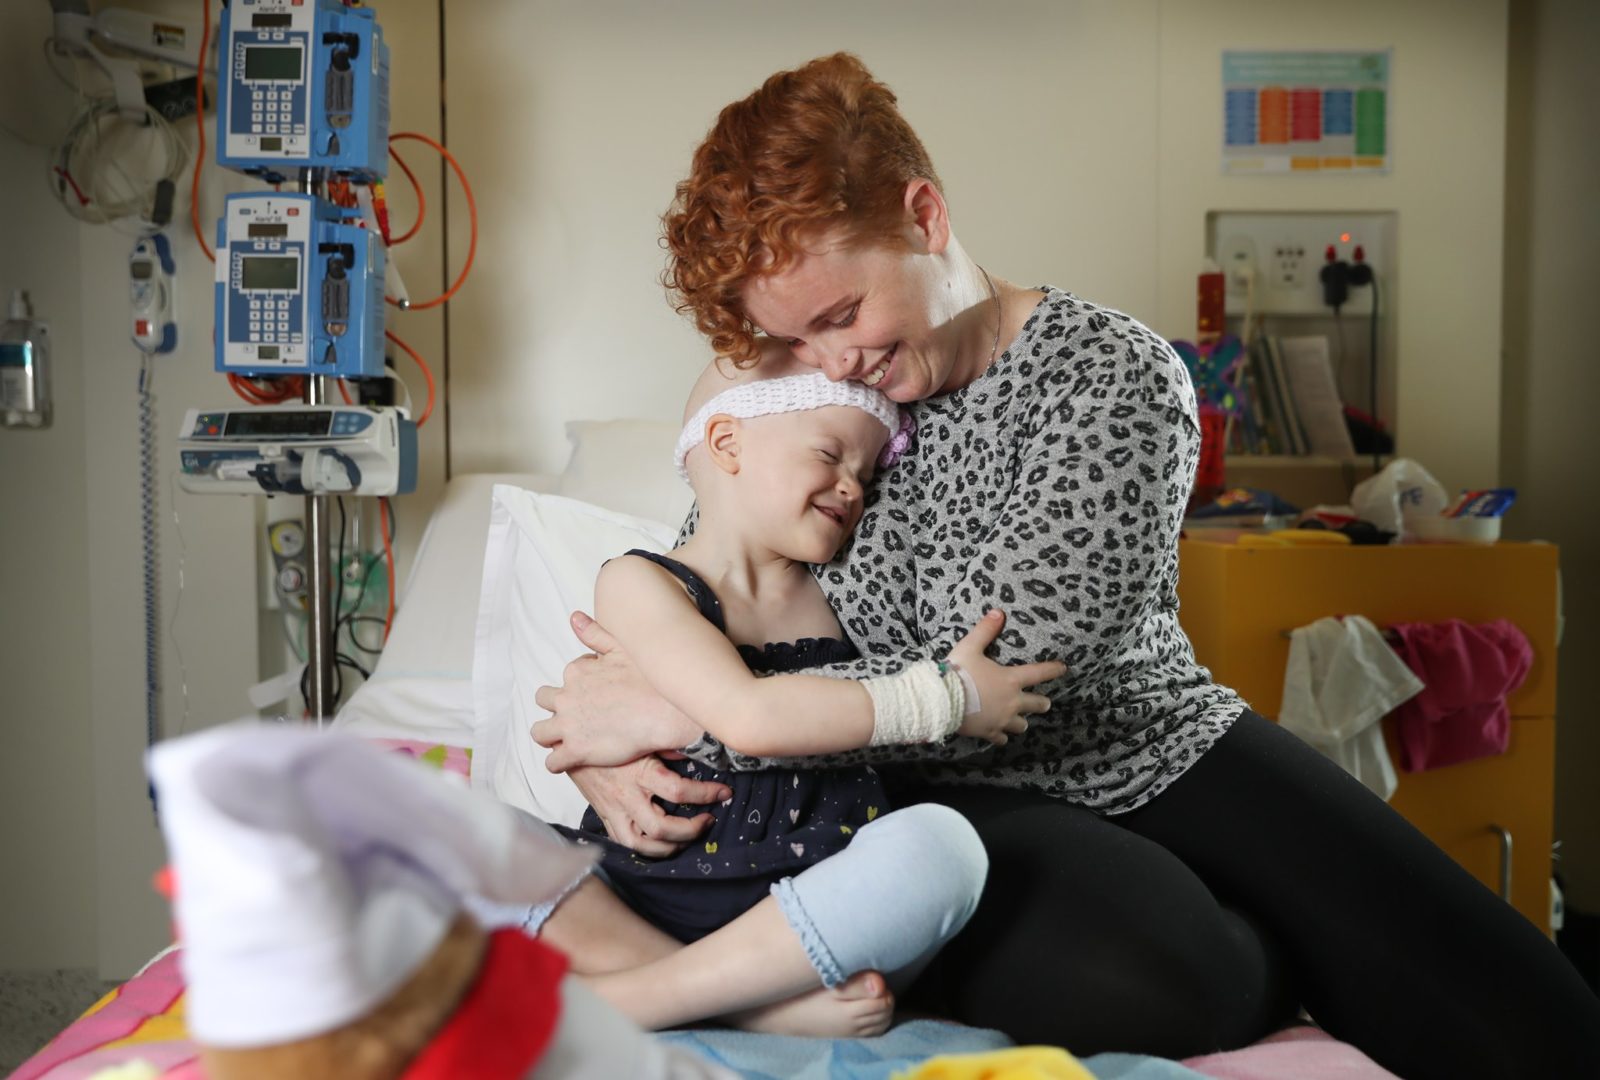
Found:
[[[120,6],[198,16],[189,0],[118,0]],[[438,134],[438,5],[386,0],[395,128]],[[0,128],[50,142],[70,117],[40,59],[45,3],[0,5]],[[186,128],[190,131],[192,128]],[[58,419],[30,443],[0,434],[0,685],[6,688],[6,755],[0,765],[0,968],[98,966],[131,974],[170,938],[150,890],[162,864],[142,774],[144,638],[138,494],[136,350],[126,326],[131,237],[78,226],[45,190],[43,150],[0,131],[0,285],[29,285],[58,323]],[[210,152],[210,147],[208,147]],[[213,158],[214,160],[214,158]],[[408,160],[430,203],[438,163]],[[398,179],[398,178],[397,178]],[[224,189],[253,182],[208,165],[202,219],[211,240]],[[411,221],[405,181],[392,184],[395,218]],[[187,222],[187,186],[168,229],[178,261],[179,349],[157,360],[160,472],[162,731],[174,734],[251,712],[245,690],[258,653],[258,546],[262,502],[173,491],[184,408],[235,398],[213,371],[211,262]],[[400,250],[413,294],[443,282],[440,218]],[[13,246],[14,245],[14,246]],[[442,368],[440,312],[400,315],[402,336]],[[422,381],[408,360],[400,370]],[[443,410],[422,432],[419,496],[398,504],[400,576],[443,482]],[[176,504],[181,526],[173,523]],[[181,528],[181,538],[179,538]],[[179,576],[184,589],[179,597]],[[469,586],[470,587],[470,586]],[[264,624],[275,632],[272,622]],[[182,661],[179,662],[179,654]],[[184,686],[187,685],[187,701]]]

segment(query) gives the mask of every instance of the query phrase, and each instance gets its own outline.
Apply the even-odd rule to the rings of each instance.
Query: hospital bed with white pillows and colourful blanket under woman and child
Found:
[[[384,653],[334,726],[466,776],[474,787],[534,813],[576,819],[582,810],[576,789],[549,774],[542,752],[522,736],[531,706],[506,709],[506,701],[486,698],[530,698],[533,688],[582,651],[566,629],[566,616],[586,606],[598,562],[626,546],[670,544],[690,504],[670,466],[675,434],[645,421],[579,422],[570,426],[574,446],[562,474],[451,480],[402,589]],[[606,544],[624,547],[606,550]],[[498,614],[488,610],[496,598]],[[542,610],[506,611],[518,605]],[[509,614],[518,616],[515,627],[507,626]],[[507,645],[499,640],[506,635],[517,640]],[[494,670],[496,662],[507,661],[525,669],[512,683],[506,682],[507,672]],[[933,1054],[1006,1045],[998,1032],[936,1021],[901,1024],[877,1040],[798,1040],[710,1029],[667,1038],[744,1075],[869,1080],[890,1080]],[[182,1027],[179,955],[171,947],[14,1075],[66,1080],[144,1061],[154,1075],[197,1077],[194,1059],[195,1048]],[[1187,1062],[1099,1054],[1085,1064],[1096,1077],[1138,1080],[1390,1075],[1312,1027]]]

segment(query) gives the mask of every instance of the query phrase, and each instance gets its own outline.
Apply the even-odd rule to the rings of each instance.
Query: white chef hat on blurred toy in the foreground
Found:
[[[354,738],[230,725],[149,757],[189,986],[211,1046],[341,1027],[438,946],[462,896],[541,902],[592,853]]]

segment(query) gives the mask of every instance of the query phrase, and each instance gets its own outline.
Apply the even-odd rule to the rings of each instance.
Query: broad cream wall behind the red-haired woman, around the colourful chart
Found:
[[[1402,450],[1446,486],[1498,475],[1504,0],[446,11],[451,146],[491,222],[451,325],[456,469],[554,469],[563,419],[677,414],[706,352],[656,285],[658,216],[723,104],[848,48],[899,94],[981,262],[1170,336],[1194,331],[1208,210],[1395,210]],[[1394,174],[1221,174],[1222,48],[1387,46]]]

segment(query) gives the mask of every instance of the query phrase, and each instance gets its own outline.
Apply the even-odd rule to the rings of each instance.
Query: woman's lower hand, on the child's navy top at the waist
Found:
[[[568,776],[600,814],[613,840],[653,858],[677,853],[712,821],[709,813],[694,818],[669,814],[653,797],[690,805],[733,798],[733,792],[722,784],[678,776],[656,757],[616,768],[574,768]]]

